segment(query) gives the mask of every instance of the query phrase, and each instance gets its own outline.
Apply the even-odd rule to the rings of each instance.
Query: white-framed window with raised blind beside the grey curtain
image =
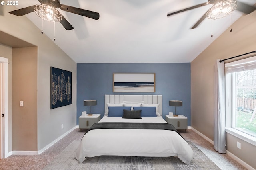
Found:
[[[256,137],[256,57],[225,66],[231,127]]]

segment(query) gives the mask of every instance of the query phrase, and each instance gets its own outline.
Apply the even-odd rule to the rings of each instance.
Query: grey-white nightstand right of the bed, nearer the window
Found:
[[[188,118],[184,115],[178,115],[178,117],[169,117],[169,115],[165,115],[165,121],[172,124],[176,129],[183,129],[185,131],[188,129]]]

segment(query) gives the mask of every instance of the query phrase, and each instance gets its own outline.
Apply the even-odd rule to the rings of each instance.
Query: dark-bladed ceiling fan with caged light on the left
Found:
[[[16,16],[23,16],[30,12],[36,12],[36,14],[44,20],[57,22],[59,21],[66,30],[74,29],[72,25],[64,18],[63,15],[56,8],[60,8],[63,11],[71,12],[74,14],[78,14],[81,16],[89,17],[94,20],[98,20],[100,18],[100,14],[98,12],[88,11],[81,8],[76,8],[68,5],[60,4],[60,0],[38,0],[41,5],[33,5],[28,6],[26,8],[21,8],[18,10],[14,10],[9,12],[10,14],[14,14]]]

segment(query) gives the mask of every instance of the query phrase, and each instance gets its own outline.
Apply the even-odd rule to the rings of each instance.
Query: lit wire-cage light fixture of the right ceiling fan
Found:
[[[231,14],[236,7],[237,5],[235,0],[223,0],[214,4],[214,6],[208,10],[206,16],[213,20],[219,19]]]

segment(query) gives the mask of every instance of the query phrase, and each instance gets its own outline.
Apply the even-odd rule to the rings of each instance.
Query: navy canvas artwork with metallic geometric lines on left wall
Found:
[[[71,104],[72,72],[51,67],[50,109]]]

